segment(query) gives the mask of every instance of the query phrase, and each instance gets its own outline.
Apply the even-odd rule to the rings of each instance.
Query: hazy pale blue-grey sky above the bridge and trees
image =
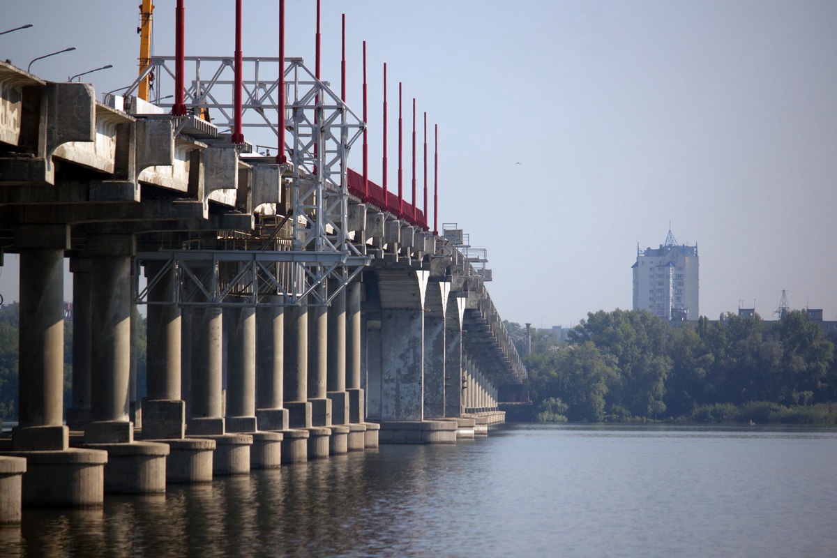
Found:
[[[113,64],[89,77],[97,93],[115,90],[136,77],[139,3],[0,0],[0,31],[34,24],[0,35],[0,58],[25,69],[75,46],[33,73],[64,80]],[[286,13],[286,55],[310,67],[315,4],[289,0]],[[155,5],[154,54],[173,54],[175,0]],[[277,6],[245,0],[245,56],[276,55]],[[388,62],[389,182],[401,80],[405,177],[415,96],[439,124],[439,223],[488,248],[504,318],[574,325],[590,310],[629,309],[637,243],[663,243],[670,222],[680,243],[698,244],[701,315],[755,299],[769,319],[787,289],[794,308],[837,320],[837,2],[322,6],[323,79],[339,90],[345,12],[358,114],[367,40],[370,177],[380,180]],[[231,55],[234,1],[186,7],[187,54]],[[358,170],[359,156],[358,144]],[[419,156],[419,184],[420,166]],[[17,298],[14,260],[0,276],[7,300]]]

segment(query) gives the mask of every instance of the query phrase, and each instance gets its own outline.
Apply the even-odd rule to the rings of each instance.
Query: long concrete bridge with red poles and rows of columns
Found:
[[[419,208],[414,105],[408,200],[400,99],[393,192],[386,147],[383,183],[368,177],[366,96],[358,116],[345,76],[338,94],[284,46],[187,57],[177,27],[176,56],[102,100],[0,62],[0,245],[20,254],[19,424],[0,438],[0,495],[17,505],[0,521],[21,502],[95,506],[378,443],[455,443],[527,399],[485,250],[435,211],[429,223],[426,117]]]

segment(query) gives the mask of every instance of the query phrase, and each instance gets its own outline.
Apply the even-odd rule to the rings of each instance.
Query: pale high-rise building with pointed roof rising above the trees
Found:
[[[634,310],[663,320],[697,320],[697,244],[678,244],[669,230],[660,248],[636,248]]]

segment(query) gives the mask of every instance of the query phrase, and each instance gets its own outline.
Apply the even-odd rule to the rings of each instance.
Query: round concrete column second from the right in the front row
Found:
[[[331,424],[349,423],[349,394],[346,392],[346,289],[340,289],[328,307],[327,397],[331,400]]]

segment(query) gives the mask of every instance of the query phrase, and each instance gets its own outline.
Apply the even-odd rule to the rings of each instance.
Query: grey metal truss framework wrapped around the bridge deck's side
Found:
[[[184,91],[189,110],[194,115],[212,114],[215,125],[232,130],[234,105],[223,99],[233,96],[234,59],[193,56],[187,57],[186,61],[188,67],[193,68],[193,78],[187,81]],[[167,76],[172,79],[173,86],[174,62],[174,57],[170,56],[152,57],[126,95],[131,95],[146,76],[154,76],[151,101],[162,107],[171,106],[160,101],[167,98],[162,95],[162,84],[167,84]],[[290,132],[285,135],[284,149],[290,154],[292,250],[258,253],[177,250],[138,254],[137,260],[169,261],[183,281],[195,284],[197,289],[181,289],[177,293],[176,300],[181,305],[210,304],[198,300],[206,297],[214,305],[242,304],[242,300],[244,304],[257,304],[266,294],[264,289],[270,288],[274,289],[271,294],[282,295],[286,305],[327,304],[336,294],[335,290],[328,292],[328,279],[336,279],[339,290],[369,263],[346,232],[348,152],[366,124],[326,82],[316,79],[302,59],[285,59],[284,107],[280,107],[277,100],[280,59],[244,58],[243,69],[242,125],[268,128],[280,136],[277,123],[284,122],[285,130]],[[208,79],[202,78],[202,70],[204,76],[210,76]],[[264,79],[265,75],[269,77]],[[180,130],[179,125],[177,130]],[[213,262],[211,267],[216,269],[213,288],[198,281],[198,274],[190,271],[197,265],[198,254],[201,254],[199,258],[203,259],[204,268],[207,262]],[[230,266],[236,268],[231,276]],[[271,266],[279,275],[270,271]],[[238,302],[228,302],[228,295],[239,291],[247,295],[230,297],[229,300]],[[147,290],[143,293],[147,294]],[[201,296],[194,299],[188,293]],[[141,294],[138,293],[137,302],[147,302]]]

